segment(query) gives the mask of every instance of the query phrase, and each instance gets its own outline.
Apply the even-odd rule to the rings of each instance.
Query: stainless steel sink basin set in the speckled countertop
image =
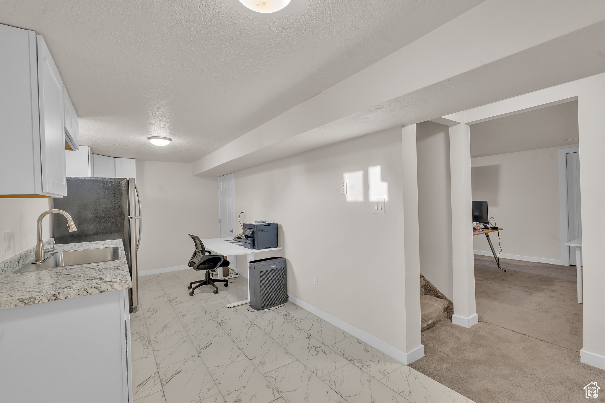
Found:
[[[14,271],[24,273],[46,269],[58,269],[67,266],[87,265],[92,263],[111,262],[118,259],[118,247],[85,249],[81,251],[55,252],[42,263],[34,263],[33,260]]]

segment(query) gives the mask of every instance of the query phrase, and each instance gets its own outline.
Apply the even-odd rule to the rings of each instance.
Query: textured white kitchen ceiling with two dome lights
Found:
[[[44,36],[80,144],[191,162],[480,2],[292,0],[260,18],[234,0],[4,0],[0,23]]]

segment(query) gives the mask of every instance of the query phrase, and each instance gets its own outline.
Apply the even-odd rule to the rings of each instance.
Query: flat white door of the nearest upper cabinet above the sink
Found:
[[[63,82],[40,35],[38,35],[38,94],[42,192],[67,196]]]

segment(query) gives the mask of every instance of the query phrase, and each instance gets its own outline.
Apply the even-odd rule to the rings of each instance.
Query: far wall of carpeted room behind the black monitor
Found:
[[[503,255],[560,264],[557,150],[574,146],[577,144],[471,160],[473,200],[487,200],[489,215],[504,228],[500,232]],[[490,238],[499,252],[498,237]],[[476,235],[473,240],[474,250],[491,255],[485,236]]]

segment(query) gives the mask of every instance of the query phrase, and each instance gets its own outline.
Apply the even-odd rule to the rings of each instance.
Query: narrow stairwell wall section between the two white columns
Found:
[[[416,124],[420,272],[453,300],[450,127]]]

